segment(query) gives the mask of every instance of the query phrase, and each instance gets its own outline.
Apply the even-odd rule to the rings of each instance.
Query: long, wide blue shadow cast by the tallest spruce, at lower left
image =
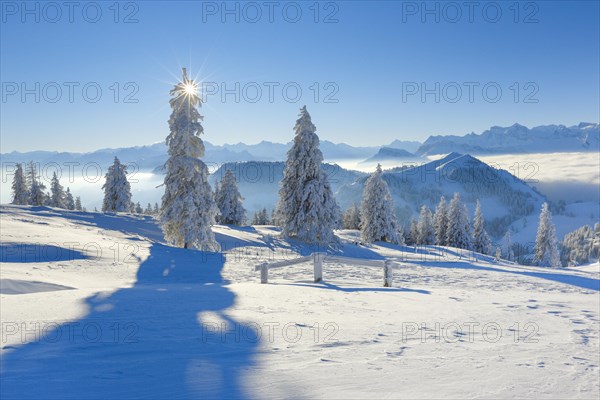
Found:
[[[228,332],[242,325],[223,313],[234,294],[222,267],[221,254],[152,245],[133,287],[88,298],[83,319],[40,321],[36,341],[6,349],[1,397],[249,397],[242,373],[254,365],[257,341],[199,320],[212,312]],[[31,340],[36,328],[27,329]]]

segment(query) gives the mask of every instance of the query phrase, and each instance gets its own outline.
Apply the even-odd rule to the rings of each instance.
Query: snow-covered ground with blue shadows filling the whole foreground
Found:
[[[215,227],[168,247],[154,220],[2,206],[2,398],[598,398],[598,264],[353,244],[374,267],[254,266],[318,250]]]

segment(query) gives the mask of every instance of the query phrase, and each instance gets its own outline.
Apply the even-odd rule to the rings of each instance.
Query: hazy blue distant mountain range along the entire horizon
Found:
[[[282,161],[291,146],[289,143],[262,141],[256,144],[206,145],[207,163],[221,165],[235,161]],[[600,127],[598,123],[580,123],[576,126],[544,125],[535,128],[515,124],[507,128],[492,127],[489,130],[465,136],[430,136],[423,144],[415,141],[394,140],[385,146],[355,147],[345,143],[321,141],[321,151],[326,161],[355,160],[357,162],[405,161],[425,158],[429,155],[451,152],[472,155],[549,153],[600,151]],[[2,161],[37,163],[79,162],[98,163],[103,168],[112,163],[115,156],[124,163],[137,164],[141,170],[160,168],[167,159],[164,143],[117,149],[101,149],[89,153],[58,151],[11,152],[1,154]],[[216,169],[216,168],[214,168]]]

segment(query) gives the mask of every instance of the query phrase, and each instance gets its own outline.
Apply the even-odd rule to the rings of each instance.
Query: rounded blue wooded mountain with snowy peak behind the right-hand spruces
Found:
[[[495,169],[470,155],[451,153],[429,163],[393,168],[384,173],[401,223],[406,227],[421,205],[435,208],[440,196],[450,199],[455,192],[471,214],[477,199],[493,236],[501,236],[514,220],[539,212],[544,197],[507,171]],[[337,192],[342,208],[360,202],[366,178]]]

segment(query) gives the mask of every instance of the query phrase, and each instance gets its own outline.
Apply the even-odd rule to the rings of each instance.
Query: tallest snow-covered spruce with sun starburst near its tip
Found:
[[[170,134],[167,136],[169,159],[166,163],[165,193],[162,197],[160,224],[165,239],[174,246],[218,251],[219,244],[211,230],[217,206],[208,183],[208,168],[200,160],[204,128],[198,111],[197,85],[187,77],[170,92]]]

